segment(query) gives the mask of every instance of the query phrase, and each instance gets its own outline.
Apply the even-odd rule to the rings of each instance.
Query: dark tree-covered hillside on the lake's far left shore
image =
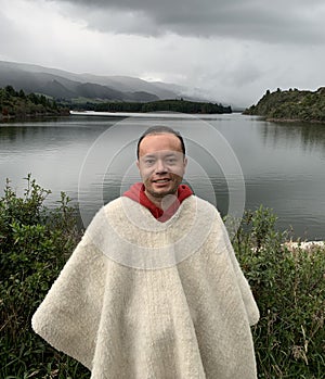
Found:
[[[58,106],[43,94],[26,94],[23,90],[16,91],[12,86],[0,88],[0,119],[64,114],[69,114],[67,109]]]

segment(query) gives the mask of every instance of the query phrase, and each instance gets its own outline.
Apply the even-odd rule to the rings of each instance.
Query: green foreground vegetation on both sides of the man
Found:
[[[27,177],[17,197],[10,182],[0,198],[0,378],[78,378],[90,372],[32,332],[30,318],[78,243],[75,210]],[[233,244],[257,299],[252,328],[259,378],[324,378],[325,249],[288,250],[276,217],[247,212]]]

